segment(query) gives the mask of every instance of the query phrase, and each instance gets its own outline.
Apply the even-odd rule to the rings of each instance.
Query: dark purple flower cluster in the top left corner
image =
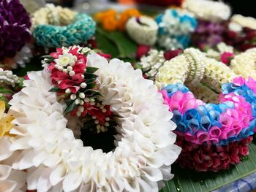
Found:
[[[31,38],[28,12],[19,0],[0,0],[0,60],[13,57]]]

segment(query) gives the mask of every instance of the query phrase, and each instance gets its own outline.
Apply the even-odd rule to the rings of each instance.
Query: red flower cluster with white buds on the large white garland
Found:
[[[54,85],[50,91],[56,92],[67,107],[65,113],[93,122],[96,131],[107,131],[110,126],[110,106],[102,104],[97,82],[97,68],[87,66],[87,54],[91,50],[77,46],[57,48],[56,52],[45,56],[50,79]],[[108,55],[107,55],[108,56]]]

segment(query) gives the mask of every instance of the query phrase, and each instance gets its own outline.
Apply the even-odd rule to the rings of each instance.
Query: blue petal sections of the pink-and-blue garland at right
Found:
[[[181,91],[182,93],[191,93],[189,89],[181,83],[167,85],[162,89],[167,92],[167,96],[171,98],[174,93]],[[219,139],[216,145],[227,145],[229,142],[240,141],[254,134],[256,127],[256,93],[247,85],[235,85],[233,83],[225,83],[222,85],[222,93],[234,93],[236,96],[242,96],[246,102],[252,106],[252,120],[249,121],[249,126],[242,128],[238,135],[230,135],[227,139]],[[205,104],[199,105],[195,109],[189,109],[184,114],[178,110],[173,110],[172,120],[177,124],[176,133],[184,135],[189,132],[192,136],[197,134],[197,131],[208,133],[213,126],[222,130],[222,123],[219,122],[219,116],[228,109],[234,109],[233,101],[225,101],[220,104]]]

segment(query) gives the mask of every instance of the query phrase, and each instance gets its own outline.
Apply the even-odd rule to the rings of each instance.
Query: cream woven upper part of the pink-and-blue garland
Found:
[[[222,83],[231,82],[234,77],[236,74],[229,67],[214,59],[206,58],[200,50],[189,48],[184,50],[182,55],[165,61],[165,64],[159,68],[155,82],[159,88],[177,82],[192,87],[202,82],[220,93]]]

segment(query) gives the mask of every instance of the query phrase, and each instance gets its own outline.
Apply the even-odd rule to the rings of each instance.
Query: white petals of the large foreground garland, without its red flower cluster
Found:
[[[23,152],[13,167],[28,170],[28,189],[37,191],[158,191],[170,180],[170,164],[180,148],[162,96],[140,70],[118,59],[92,53],[87,65],[99,68],[104,103],[120,115],[113,152],[83,147],[66,128],[64,105],[57,101],[47,70],[31,72],[10,104],[18,134],[12,150]]]

